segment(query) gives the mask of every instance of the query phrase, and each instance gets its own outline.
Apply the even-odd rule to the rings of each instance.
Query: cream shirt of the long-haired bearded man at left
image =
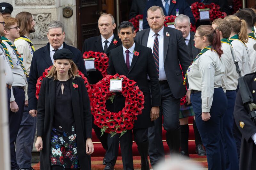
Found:
[[[33,57],[32,48],[26,40],[22,39],[14,41],[14,45],[20,53],[21,57],[23,57],[23,65],[29,75],[31,60]],[[28,100],[28,85],[25,87],[25,100]]]

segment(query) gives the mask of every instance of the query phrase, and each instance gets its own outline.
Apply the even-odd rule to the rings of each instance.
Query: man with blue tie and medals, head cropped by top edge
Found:
[[[186,0],[149,0],[143,13],[143,29],[149,28],[147,20],[147,11],[151,6],[159,6],[163,8],[164,16],[176,15],[176,10],[179,10],[179,14],[187,15],[190,18],[192,24],[195,24],[195,18]]]

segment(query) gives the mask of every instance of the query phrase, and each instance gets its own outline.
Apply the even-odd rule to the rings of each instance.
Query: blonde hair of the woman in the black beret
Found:
[[[78,73],[77,73],[78,69],[76,67],[76,64],[73,62],[73,60],[68,59],[68,62],[71,64],[71,68],[70,68],[70,70],[68,70],[69,79],[71,78],[71,79],[74,80],[76,77],[80,77],[78,75]],[[57,71],[56,71],[54,65],[52,66],[51,70],[49,71],[49,73],[48,73],[48,75],[46,77],[48,77],[48,78],[52,78],[53,77],[54,78],[53,80],[58,80],[57,79]]]

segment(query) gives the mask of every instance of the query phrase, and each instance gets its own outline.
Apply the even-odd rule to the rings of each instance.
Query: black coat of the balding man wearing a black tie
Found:
[[[116,39],[117,43],[116,45],[113,44],[114,39]],[[119,39],[119,37],[114,34],[114,38],[111,41],[111,43],[108,46],[107,50],[107,56],[109,56],[109,51],[111,49],[114,49],[122,44],[122,41]],[[94,51],[94,52],[101,52],[103,53],[103,48],[102,48],[102,43],[101,43],[101,35],[96,36],[96,37],[91,37],[86,40],[84,40],[84,45],[83,45],[83,53],[85,51]],[[100,71],[88,71],[88,81],[90,84],[96,84],[98,83],[103,77],[100,73]]]

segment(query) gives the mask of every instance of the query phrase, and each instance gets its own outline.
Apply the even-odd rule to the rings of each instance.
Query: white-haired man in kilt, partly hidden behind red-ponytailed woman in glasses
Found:
[[[178,17],[174,20],[175,28],[177,30],[180,30],[182,33],[182,36],[186,42],[186,45],[188,47],[188,54],[190,56],[190,62],[193,61],[193,59],[200,53],[200,49],[195,48],[195,41],[194,39],[194,32],[190,31],[190,19],[187,15],[180,14]],[[180,139],[180,153],[184,156],[189,156],[188,154],[188,135],[189,135],[189,127],[188,127],[188,117],[194,116],[193,120],[193,128],[195,132],[195,142],[196,142],[196,153],[199,156],[204,156],[206,154],[203,143],[199,134],[199,131],[196,127],[196,121],[195,121],[195,113],[193,111],[193,107],[191,104],[185,103],[184,105],[180,106],[180,130],[181,130],[181,139]]]

